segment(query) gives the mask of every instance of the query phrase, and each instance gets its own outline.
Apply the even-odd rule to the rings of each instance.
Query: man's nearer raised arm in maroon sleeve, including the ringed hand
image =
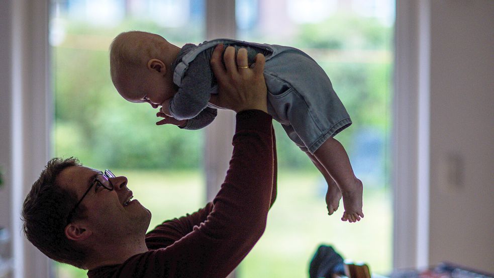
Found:
[[[239,65],[246,63],[244,54],[239,52]],[[260,57],[254,69],[239,72],[231,55],[234,58],[235,52],[227,49],[227,69],[220,72],[220,98],[216,100],[222,107],[237,112],[234,150],[225,182],[206,221],[167,248],[143,254],[148,266],[141,269],[143,274],[224,277],[247,255],[265,229],[274,199],[275,164],[272,118],[265,113],[264,57]],[[142,259],[130,259],[122,270],[140,264]]]

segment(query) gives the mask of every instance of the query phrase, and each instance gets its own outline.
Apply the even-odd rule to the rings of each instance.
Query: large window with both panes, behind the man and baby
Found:
[[[278,198],[265,234],[237,275],[307,276],[323,243],[346,258],[366,261],[372,271],[388,271],[394,2],[237,0],[236,14],[237,39],[300,48],[330,76],[353,120],[337,139],[364,182],[366,215],[358,224],[343,223],[340,203],[328,216],[323,177],[276,125]],[[155,127],[155,112],[147,104],[123,100],[110,80],[108,47],[125,30],[159,33],[178,46],[199,43],[206,39],[204,22],[204,0],[51,1],[53,155],[74,155],[87,166],[126,175],[136,198],[153,212],[151,228],[204,205],[204,135]],[[157,204],[153,196],[174,198]],[[57,264],[55,271],[58,277],[86,276],[67,265]]]

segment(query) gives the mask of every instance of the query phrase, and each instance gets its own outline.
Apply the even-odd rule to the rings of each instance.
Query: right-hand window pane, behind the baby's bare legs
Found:
[[[353,124],[336,135],[364,184],[358,223],[340,220],[343,203],[327,215],[327,185],[312,162],[275,125],[278,196],[267,228],[239,267],[239,277],[308,277],[320,244],[371,271],[392,267],[389,188],[392,39],[391,0],[237,0],[240,40],[302,49],[326,71]]]

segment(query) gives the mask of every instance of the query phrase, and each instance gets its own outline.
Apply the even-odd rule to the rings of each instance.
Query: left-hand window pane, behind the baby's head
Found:
[[[203,131],[156,126],[157,110],[132,104],[110,77],[109,46],[120,32],[157,33],[178,46],[205,40],[204,0],[52,0],[54,156],[129,179],[153,214],[150,228],[204,206]],[[55,264],[59,277],[86,271]]]

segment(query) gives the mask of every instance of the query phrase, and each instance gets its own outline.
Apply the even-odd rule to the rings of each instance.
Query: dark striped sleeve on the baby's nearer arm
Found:
[[[189,63],[180,88],[170,101],[170,113],[177,120],[192,119],[206,108],[210,99],[213,71],[209,61],[197,56]]]

